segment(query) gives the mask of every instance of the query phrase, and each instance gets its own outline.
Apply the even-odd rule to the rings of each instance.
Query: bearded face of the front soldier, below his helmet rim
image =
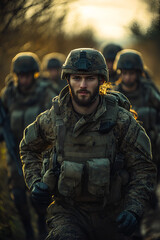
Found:
[[[89,106],[99,93],[97,75],[71,74],[69,80],[71,96],[79,106]]]

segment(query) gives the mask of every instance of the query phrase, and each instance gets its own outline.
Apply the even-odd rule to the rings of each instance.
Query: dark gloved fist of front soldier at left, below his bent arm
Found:
[[[31,197],[35,204],[43,207],[48,207],[52,200],[49,187],[43,182],[36,182],[33,185]]]

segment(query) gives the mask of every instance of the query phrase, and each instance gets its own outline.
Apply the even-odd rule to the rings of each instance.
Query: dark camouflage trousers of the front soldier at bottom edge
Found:
[[[93,206],[88,211],[86,206],[54,203],[48,209],[50,232],[46,240],[124,240],[117,229],[117,214],[109,207]]]

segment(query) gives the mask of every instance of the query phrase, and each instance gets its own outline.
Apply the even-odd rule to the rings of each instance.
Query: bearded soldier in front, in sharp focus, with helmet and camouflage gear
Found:
[[[99,94],[108,81],[99,51],[72,50],[62,79],[69,85],[25,129],[20,144],[32,197],[48,205],[54,195],[46,239],[123,239],[136,229],[154,190],[150,140],[124,95]],[[52,148],[42,178],[41,153]]]

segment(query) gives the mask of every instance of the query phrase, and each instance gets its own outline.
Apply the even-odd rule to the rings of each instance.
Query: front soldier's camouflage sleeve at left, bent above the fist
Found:
[[[20,143],[20,156],[23,174],[29,189],[41,180],[42,153],[51,149],[54,144],[54,128],[52,109],[40,114],[37,119],[24,130]]]

